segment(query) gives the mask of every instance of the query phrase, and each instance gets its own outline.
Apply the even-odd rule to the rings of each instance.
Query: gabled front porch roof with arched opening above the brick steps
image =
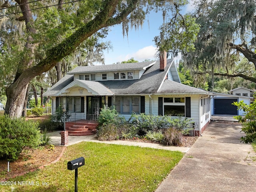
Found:
[[[73,82],[71,82],[70,84],[68,84],[66,87],[64,87],[62,90],[60,90],[56,96],[61,96],[65,93],[70,93],[72,88],[77,88],[77,87],[81,87],[84,88],[86,90],[88,90],[89,93],[92,93],[93,95],[108,95],[108,96],[112,96],[113,92],[108,89],[107,87],[105,87],[103,84],[101,84],[100,82],[96,82],[96,81],[87,81],[87,80],[74,80]]]

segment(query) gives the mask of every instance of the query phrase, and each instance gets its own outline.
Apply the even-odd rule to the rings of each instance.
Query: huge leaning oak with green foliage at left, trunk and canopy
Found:
[[[94,34],[104,36],[111,26],[121,23],[123,33],[128,32],[129,26],[142,25],[147,12],[176,9],[181,1],[1,0],[0,6],[6,9],[1,10],[0,47],[6,45],[11,54],[10,45],[20,44],[14,78],[6,88],[5,113],[21,116],[29,82],[51,70]]]

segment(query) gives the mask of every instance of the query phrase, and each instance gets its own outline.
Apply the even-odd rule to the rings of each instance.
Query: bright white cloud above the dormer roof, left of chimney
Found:
[[[154,59],[154,55],[156,53],[156,47],[150,45],[146,46],[135,53],[127,54],[122,60],[129,60],[130,58],[134,58],[135,60],[139,60],[139,62],[144,61],[145,59]]]

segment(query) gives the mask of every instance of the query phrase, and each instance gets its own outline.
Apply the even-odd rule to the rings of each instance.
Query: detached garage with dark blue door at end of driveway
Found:
[[[212,115],[244,115],[243,110],[237,110],[237,107],[232,105],[233,102],[240,102],[244,101],[246,104],[250,104],[250,100],[252,97],[250,97],[250,91],[248,96],[243,96],[244,90],[246,88],[240,88],[241,94],[224,94],[224,93],[216,93],[211,98],[211,106],[212,106]],[[248,89],[246,89],[248,91]],[[238,91],[238,88],[236,88],[236,91]],[[233,93],[232,90],[229,91],[230,93]]]

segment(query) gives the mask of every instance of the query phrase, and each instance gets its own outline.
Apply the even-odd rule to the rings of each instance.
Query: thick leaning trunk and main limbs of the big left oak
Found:
[[[28,34],[35,33],[36,30],[32,28],[34,20],[27,0],[16,0],[16,2],[20,5],[22,10]],[[33,51],[36,45],[32,44],[32,38],[28,37],[25,46],[28,54],[25,55],[24,59],[19,63],[19,70],[16,73],[14,82],[6,89],[7,102],[4,113],[9,116],[20,117],[22,115],[28,84],[34,77],[52,69],[57,62],[74,52],[84,40],[92,36],[98,30],[107,26],[120,24],[132,10],[134,10],[137,2],[138,0],[129,1],[126,10],[116,15],[116,7],[120,3],[120,0],[106,0],[101,11],[98,12],[98,15],[76,30],[76,32],[68,38],[64,39],[50,50],[47,50],[46,57],[35,66],[32,66],[32,64],[34,61]],[[30,59],[26,60],[26,58]]]

